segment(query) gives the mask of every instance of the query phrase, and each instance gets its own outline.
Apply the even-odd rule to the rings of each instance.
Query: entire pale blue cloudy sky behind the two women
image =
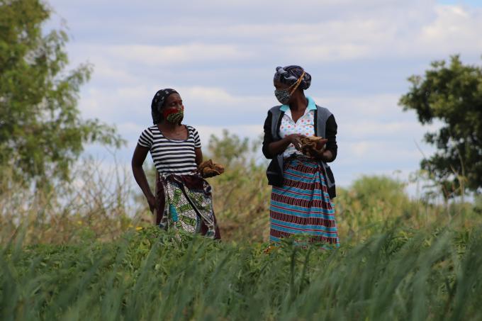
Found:
[[[338,123],[338,184],[361,174],[405,179],[422,159],[417,145],[433,152],[422,144],[430,128],[398,106],[407,78],[454,54],[482,62],[482,0],[49,2],[48,27],[67,23],[71,67],[94,65],[82,115],[117,126],[128,140],[118,152],[125,164],[152,123],[157,89],[179,91],[185,123],[206,147],[223,128],[258,137],[277,104],[275,67],[299,64],[313,77],[306,94]]]

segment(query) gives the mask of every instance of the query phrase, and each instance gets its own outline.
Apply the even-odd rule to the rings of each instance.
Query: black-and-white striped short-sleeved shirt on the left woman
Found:
[[[197,169],[194,148],[201,147],[198,131],[187,126],[187,140],[171,140],[162,135],[157,125],[145,129],[138,144],[150,150],[154,165],[160,174],[186,175]]]

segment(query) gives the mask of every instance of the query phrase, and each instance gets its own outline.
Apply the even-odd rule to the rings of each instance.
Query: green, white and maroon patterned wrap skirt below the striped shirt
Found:
[[[221,238],[211,185],[198,174],[162,175],[156,182],[156,224],[162,229]]]

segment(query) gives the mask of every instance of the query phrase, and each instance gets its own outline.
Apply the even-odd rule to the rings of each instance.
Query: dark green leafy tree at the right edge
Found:
[[[465,188],[482,188],[482,68],[462,64],[458,55],[432,62],[425,76],[408,79],[412,87],[400,98],[404,111],[414,110],[420,123],[442,121],[425,142],[437,152],[421,162],[435,175],[445,196],[463,195]]]

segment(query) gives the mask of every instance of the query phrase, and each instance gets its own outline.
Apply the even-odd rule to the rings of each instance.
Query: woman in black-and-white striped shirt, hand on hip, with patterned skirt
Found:
[[[156,213],[156,224],[220,239],[211,186],[197,172],[203,161],[201,140],[195,128],[181,123],[184,118],[181,96],[174,89],[157,91],[151,113],[154,125],[141,133],[132,167],[150,210]],[[155,196],[142,169],[147,152],[157,169]]]

